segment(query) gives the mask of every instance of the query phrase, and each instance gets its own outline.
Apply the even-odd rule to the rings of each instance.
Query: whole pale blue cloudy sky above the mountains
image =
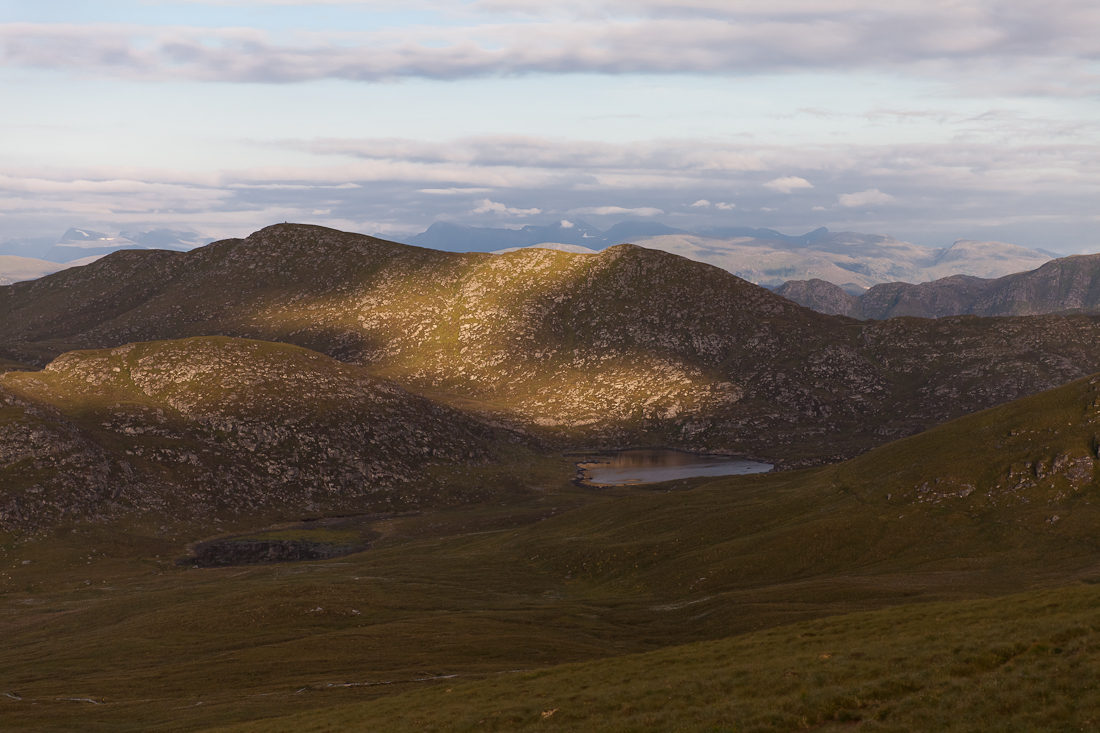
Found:
[[[436,220],[1100,250],[1096,0],[0,0],[0,241]]]

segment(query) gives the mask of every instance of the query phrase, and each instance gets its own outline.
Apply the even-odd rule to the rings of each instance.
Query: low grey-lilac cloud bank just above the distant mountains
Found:
[[[307,152],[312,144],[278,143]],[[6,215],[0,241],[56,238],[73,226],[237,237],[284,220],[399,238],[437,220],[484,226],[490,217],[516,217],[550,223],[591,215],[615,223],[617,218],[671,216],[662,212],[674,209],[675,226],[688,230],[713,227],[717,219],[782,231],[827,226],[891,233],[936,247],[965,238],[1074,251],[1069,248],[1090,245],[1098,223],[1100,144],[1087,136],[831,146],[486,136],[344,140],[340,146],[349,151],[342,161],[328,146],[316,164],[296,155],[300,163],[295,165],[220,172],[0,164],[0,214]],[[716,151],[750,158],[758,169],[690,167]],[[781,175],[814,182],[815,200],[809,204],[828,206],[845,197],[849,206],[762,211],[774,208],[777,194],[760,182]],[[484,193],[420,193],[425,189]],[[887,196],[883,190],[894,198],[887,199],[890,206],[875,206],[868,196]],[[737,192],[736,209],[715,200],[716,192]],[[674,204],[696,200],[711,206]],[[617,206],[594,205],[600,201]]]

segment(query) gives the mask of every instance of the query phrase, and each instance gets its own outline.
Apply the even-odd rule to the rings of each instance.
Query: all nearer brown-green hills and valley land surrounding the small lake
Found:
[[[6,730],[1100,720],[1094,316],[301,225],[0,315]],[[575,483],[644,446],[778,470]]]

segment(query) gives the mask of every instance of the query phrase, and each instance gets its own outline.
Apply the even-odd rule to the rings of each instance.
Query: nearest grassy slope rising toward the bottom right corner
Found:
[[[218,731],[1089,731],[1098,606],[1096,586],[903,606]]]

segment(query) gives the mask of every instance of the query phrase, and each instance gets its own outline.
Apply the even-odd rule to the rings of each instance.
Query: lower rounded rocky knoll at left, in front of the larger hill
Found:
[[[508,437],[288,344],[69,352],[0,376],[0,530],[128,512],[407,508],[440,501],[411,485],[426,467],[484,463]]]

